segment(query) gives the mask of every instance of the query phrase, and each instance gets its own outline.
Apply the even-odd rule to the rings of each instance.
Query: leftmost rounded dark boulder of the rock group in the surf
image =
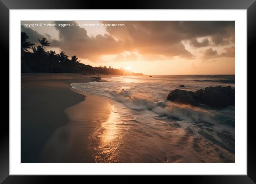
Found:
[[[171,100],[172,102],[178,102],[182,104],[190,104],[193,106],[197,105],[193,96],[185,90],[176,89],[169,92],[167,100]]]

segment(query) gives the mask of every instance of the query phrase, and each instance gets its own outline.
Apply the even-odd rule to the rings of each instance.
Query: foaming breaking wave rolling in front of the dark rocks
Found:
[[[149,97],[133,95],[129,89],[112,91],[111,94],[115,100],[122,102],[128,108],[136,110],[148,109],[154,113],[171,116],[179,120],[208,123],[231,121],[229,116],[217,114],[200,107],[193,107],[169,101],[155,102]]]

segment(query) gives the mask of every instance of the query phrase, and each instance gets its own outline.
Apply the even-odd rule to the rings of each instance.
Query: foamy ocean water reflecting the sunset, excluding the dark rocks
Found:
[[[108,82],[71,84],[112,102],[108,121],[90,136],[97,163],[235,163],[235,106],[193,107],[166,100],[175,89],[235,88],[235,75],[102,79]]]

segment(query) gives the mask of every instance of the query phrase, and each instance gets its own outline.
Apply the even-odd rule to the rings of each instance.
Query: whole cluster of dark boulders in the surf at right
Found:
[[[169,92],[167,100],[192,106],[201,103],[211,107],[227,107],[235,105],[235,89],[231,86],[210,86],[196,92],[176,89]]]

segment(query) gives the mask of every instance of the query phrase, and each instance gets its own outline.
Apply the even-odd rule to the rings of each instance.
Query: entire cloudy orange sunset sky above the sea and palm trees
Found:
[[[54,23],[80,26],[23,26]],[[235,21],[21,21],[21,31],[86,65],[146,75],[235,74]]]

